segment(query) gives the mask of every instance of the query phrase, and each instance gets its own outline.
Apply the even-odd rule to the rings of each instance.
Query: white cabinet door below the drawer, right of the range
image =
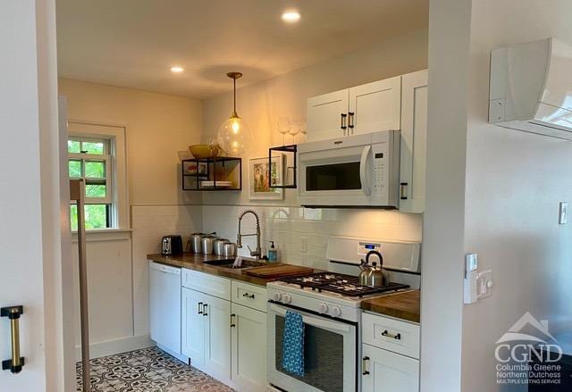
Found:
[[[369,345],[362,354],[363,392],[418,392],[419,361]]]

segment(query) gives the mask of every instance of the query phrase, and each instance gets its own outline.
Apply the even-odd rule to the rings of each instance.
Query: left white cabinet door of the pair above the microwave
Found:
[[[308,98],[306,116],[308,142],[346,135],[348,90]]]

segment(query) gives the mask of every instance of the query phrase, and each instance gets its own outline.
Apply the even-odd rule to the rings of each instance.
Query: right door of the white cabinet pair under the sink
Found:
[[[231,379],[231,302],[205,295],[205,367],[215,379]]]

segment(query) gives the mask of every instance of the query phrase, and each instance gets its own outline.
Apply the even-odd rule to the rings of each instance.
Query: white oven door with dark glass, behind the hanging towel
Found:
[[[357,325],[302,314],[304,376],[282,370],[284,321],[289,307],[268,303],[268,382],[288,392],[357,391]]]

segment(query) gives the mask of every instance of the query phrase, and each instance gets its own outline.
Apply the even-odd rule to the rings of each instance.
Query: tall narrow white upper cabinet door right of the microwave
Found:
[[[400,211],[425,211],[427,70],[402,76]]]

